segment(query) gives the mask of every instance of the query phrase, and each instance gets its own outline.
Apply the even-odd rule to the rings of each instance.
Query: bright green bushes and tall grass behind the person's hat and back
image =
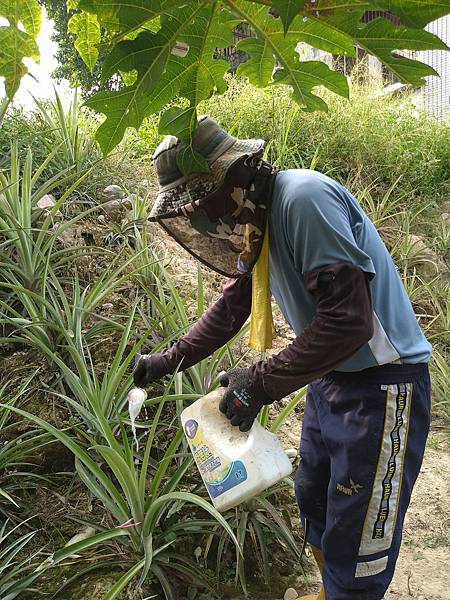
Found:
[[[231,77],[229,90],[201,111],[233,135],[266,139],[269,160],[281,168],[312,165],[358,187],[376,182],[381,191],[400,177],[403,192],[433,200],[450,192],[450,128],[411,96],[376,94],[353,84],[350,101],[330,95],[328,113],[306,113],[286,89],[259,90]]]

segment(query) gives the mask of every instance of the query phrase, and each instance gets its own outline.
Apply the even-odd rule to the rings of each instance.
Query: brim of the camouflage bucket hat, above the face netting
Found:
[[[228,169],[242,156],[252,155],[264,149],[264,140],[239,140],[210,164],[209,173],[197,173],[180,181],[178,184],[164,188],[157,195],[149,220],[157,221],[173,213],[174,210],[204,198],[217,189],[225,179]]]

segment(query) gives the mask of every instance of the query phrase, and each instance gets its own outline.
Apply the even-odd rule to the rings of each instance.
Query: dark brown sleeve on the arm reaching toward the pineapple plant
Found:
[[[158,373],[173,373],[181,363],[183,371],[210,356],[229,342],[248,319],[252,307],[251,275],[227,281],[220,298],[190,331],[170,348],[154,355]]]

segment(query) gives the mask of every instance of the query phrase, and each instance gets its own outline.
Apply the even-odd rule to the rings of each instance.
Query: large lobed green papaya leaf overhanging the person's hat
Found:
[[[12,0],[0,3],[7,1]],[[257,86],[289,85],[295,100],[310,111],[327,108],[318,95],[320,88],[347,97],[348,83],[324,62],[301,60],[299,42],[344,56],[354,56],[358,46],[400,80],[421,85],[435,71],[398,51],[446,48],[423,27],[450,13],[450,0],[75,1],[105,31],[103,79],[119,74],[126,86],[100,92],[87,102],[106,116],[96,136],[103,152],[120,142],[127,127],[138,128],[145,117],[163,112],[161,130],[183,142],[178,158],[186,172],[206,170],[192,147],[195,109],[202,100],[226,90],[229,65],[215,57],[218,48],[232,45],[232,30],[239,23],[249,25],[256,37],[238,44],[250,55],[238,74]],[[367,10],[390,11],[402,25],[387,18],[364,23]],[[177,97],[185,98],[189,108],[164,112]]]

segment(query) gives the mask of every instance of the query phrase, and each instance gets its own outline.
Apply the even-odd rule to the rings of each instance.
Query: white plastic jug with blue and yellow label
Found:
[[[181,413],[195,462],[214,506],[225,511],[261,493],[292,471],[277,436],[255,420],[243,433],[219,411],[224,388]]]

